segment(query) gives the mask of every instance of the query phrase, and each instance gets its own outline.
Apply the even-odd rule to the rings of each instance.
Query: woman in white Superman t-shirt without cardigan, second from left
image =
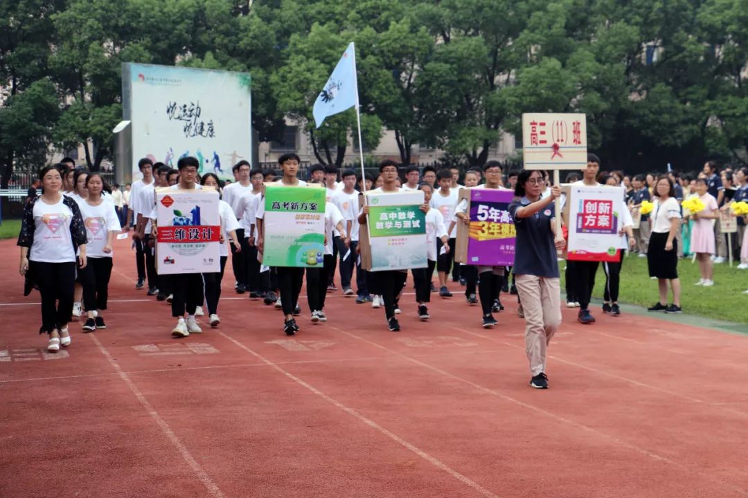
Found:
[[[109,278],[111,278],[114,234],[122,229],[114,204],[102,198],[104,180],[99,173],[90,173],[85,184],[88,196],[79,202],[83,224],[88,237],[88,265],[80,272],[83,284],[83,304],[88,318],[83,330],[92,332],[106,329],[101,311],[107,307]]]

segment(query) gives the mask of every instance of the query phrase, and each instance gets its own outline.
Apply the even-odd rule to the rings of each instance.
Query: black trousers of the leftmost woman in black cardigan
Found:
[[[76,263],[29,261],[28,271],[39,286],[42,299],[42,327],[39,333],[49,334],[66,326],[73,314]]]

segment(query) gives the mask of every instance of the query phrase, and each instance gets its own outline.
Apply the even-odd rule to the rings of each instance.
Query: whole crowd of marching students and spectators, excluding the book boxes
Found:
[[[72,162],[72,161],[70,161]],[[40,333],[49,334],[49,351],[70,345],[71,316],[85,313],[82,329],[105,329],[102,316],[107,309],[108,281],[112,270],[112,240],[120,231],[132,227],[138,280],[135,287],[147,286],[147,294],[171,304],[172,316],[177,320],[171,333],[187,337],[202,332],[197,317],[207,308],[209,325],[218,326],[218,305],[221,283],[228,255],[231,254],[236,293],[248,293],[251,299],[262,299],[265,305],[282,310],[283,332],[299,331],[296,317],[301,314],[298,298],[304,277],[307,281],[307,301],[312,322],[328,320],[325,296],[338,289],[335,273],[340,273],[343,295],[356,294],[355,303],[371,303],[373,308],[384,308],[387,328],[400,330],[397,315],[407,270],[368,272],[361,266],[358,254],[359,231],[367,222],[368,207],[359,200],[361,193],[421,190],[426,214],[426,268],[411,270],[415,287],[414,309],[419,320],[429,320],[428,305],[432,293],[448,299],[453,296],[447,282],[451,278],[465,286],[468,305],[480,305],[482,326],[491,328],[497,323],[494,314],[503,311],[500,293],[518,296],[519,313],[526,322],[527,356],[532,372],[533,387],[547,387],[545,376],[545,348],[561,321],[560,279],[557,251],[565,246],[564,236],[556,233],[557,216],[554,199],[562,198],[559,186],[551,186],[547,172],[539,170],[510,171],[505,178],[502,165],[488,161],[482,169],[469,169],[464,185],[458,183],[457,168],[437,171],[431,166],[420,170],[408,166],[405,182],[399,177],[398,165],[382,161],[374,178],[357,177],[352,169],[342,174],[334,166],[312,166],[309,183],[321,184],[326,189],[325,255],[322,267],[291,268],[264,267],[263,252],[264,203],[263,186],[275,182],[281,186],[304,186],[298,178],[299,158],[286,154],[280,158],[280,178],[274,172],[251,169],[246,161],[233,166],[235,181],[222,186],[212,173],[200,177],[199,162],[195,158],[181,158],[177,169],[165,164],[153,164],[141,159],[138,168],[141,179],[120,191],[110,189],[97,173],[74,169],[70,163],[46,166],[40,171],[40,196],[29,195],[22,222],[20,272],[27,278],[27,293],[31,287],[40,291],[42,326]],[[723,172],[722,181],[714,164],[708,163],[697,178],[637,175],[633,178],[620,172],[600,172],[600,160],[589,155],[581,174],[573,172],[567,183],[587,186],[600,184],[625,188],[625,198],[619,211],[622,214],[619,261],[602,264],[606,275],[604,304],[606,314],[618,316],[620,272],[627,250],[649,258],[649,273],[658,279],[660,299],[650,311],[678,313],[680,281],[677,273],[679,255],[693,252],[702,267],[698,284],[710,286],[711,255],[720,258],[719,243],[723,234],[718,221],[718,210],[729,209],[730,202],[748,197],[747,171]],[[735,185],[735,187],[733,187]],[[156,273],[154,235],[156,225],[156,188],[196,190],[210,187],[221,193],[219,213],[224,233],[221,237],[220,272],[165,276]],[[358,188],[357,188],[358,187]],[[456,264],[456,233],[459,223],[468,223],[468,203],[459,202],[462,187],[513,190],[514,200],[509,214],[516,228],[515,262],[512,267],[471,266]],[[683,193],[686,193],[684,196]],[[716,195],[713,195],[713,192]],[[679,205],[690,196],[699,196],[703,211],[682,213]],[[646,202],[654,200],[651,213],[642,214]],[[631,214],[634,214],[632,217]],[[687,222],[681,223],[685,217]],[[746,220],[739,220],[741,231],[726,243],[736,243],[742,249],[748,267],[748,237]],[[682,243],[680,242],[682,240]],[[685,246],[685,249],[684,247]],[[720,259],[715,259],[715,263]],[[595,323],[589,309],[595,273],[600,264],[589,261],[568,261],[565,268],[566,306],[580,308],[580,323]],[[438,287],[432,283],[434,271]],[[354,276],[355,273],[355,276]],[[356,290],[353,290],[355,280]],[[672,303],[668,304],[668,287]],[[748,292],[748,291],[747,291]]]

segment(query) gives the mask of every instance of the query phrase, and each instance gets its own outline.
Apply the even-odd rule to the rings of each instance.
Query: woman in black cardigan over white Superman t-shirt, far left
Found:
[[[47,349],[70,346],[67,323],[73,311],[76,262],[86,267],[86,229],[73,199],[63,196],[62,176],[55,166],[39,172],[44,193],[25,206],[18,245],[22,276],[34,281],[42,301],[40,334],[49,334]],[[76,249],[79,255],[76,258]]]

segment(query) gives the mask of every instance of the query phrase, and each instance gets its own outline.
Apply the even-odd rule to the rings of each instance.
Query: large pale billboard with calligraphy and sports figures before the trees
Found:
[[[252,161],[251,77],[245,72],[123,63],[123,119],[132,122],[132,179],[138,160],[177,167],[184,156],[200,174],[233,180],[231,166]]]

